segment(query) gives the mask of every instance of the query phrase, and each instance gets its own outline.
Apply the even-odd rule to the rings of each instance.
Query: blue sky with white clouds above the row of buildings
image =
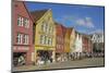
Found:
[[[74,27],[80,33],[104,33],[104,7],[45,2],[25,2],[25,4],[28,11],[51,9],[55,22],[66,27]]]

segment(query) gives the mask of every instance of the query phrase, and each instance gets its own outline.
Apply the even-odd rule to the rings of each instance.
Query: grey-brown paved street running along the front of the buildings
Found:
[[[58,62],[46,65],[24,65],[14,68],[14,71],[29,71],[29,70],[48,70],[48,69],[64,69],[64,68],[82,68],[82,66],[102,66],[104,58],[88,58],[83,60]]]

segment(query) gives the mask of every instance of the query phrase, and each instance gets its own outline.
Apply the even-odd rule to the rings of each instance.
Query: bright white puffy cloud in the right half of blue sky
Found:
[[[77,25],[85,26],[85,27],[94,27],[94,23],[90,17],[77,19],[75,21]]]

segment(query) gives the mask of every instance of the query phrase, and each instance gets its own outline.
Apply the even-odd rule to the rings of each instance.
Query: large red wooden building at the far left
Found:
[[[34,62],[33,21],[23,1],[12,2],[13,64]]]

